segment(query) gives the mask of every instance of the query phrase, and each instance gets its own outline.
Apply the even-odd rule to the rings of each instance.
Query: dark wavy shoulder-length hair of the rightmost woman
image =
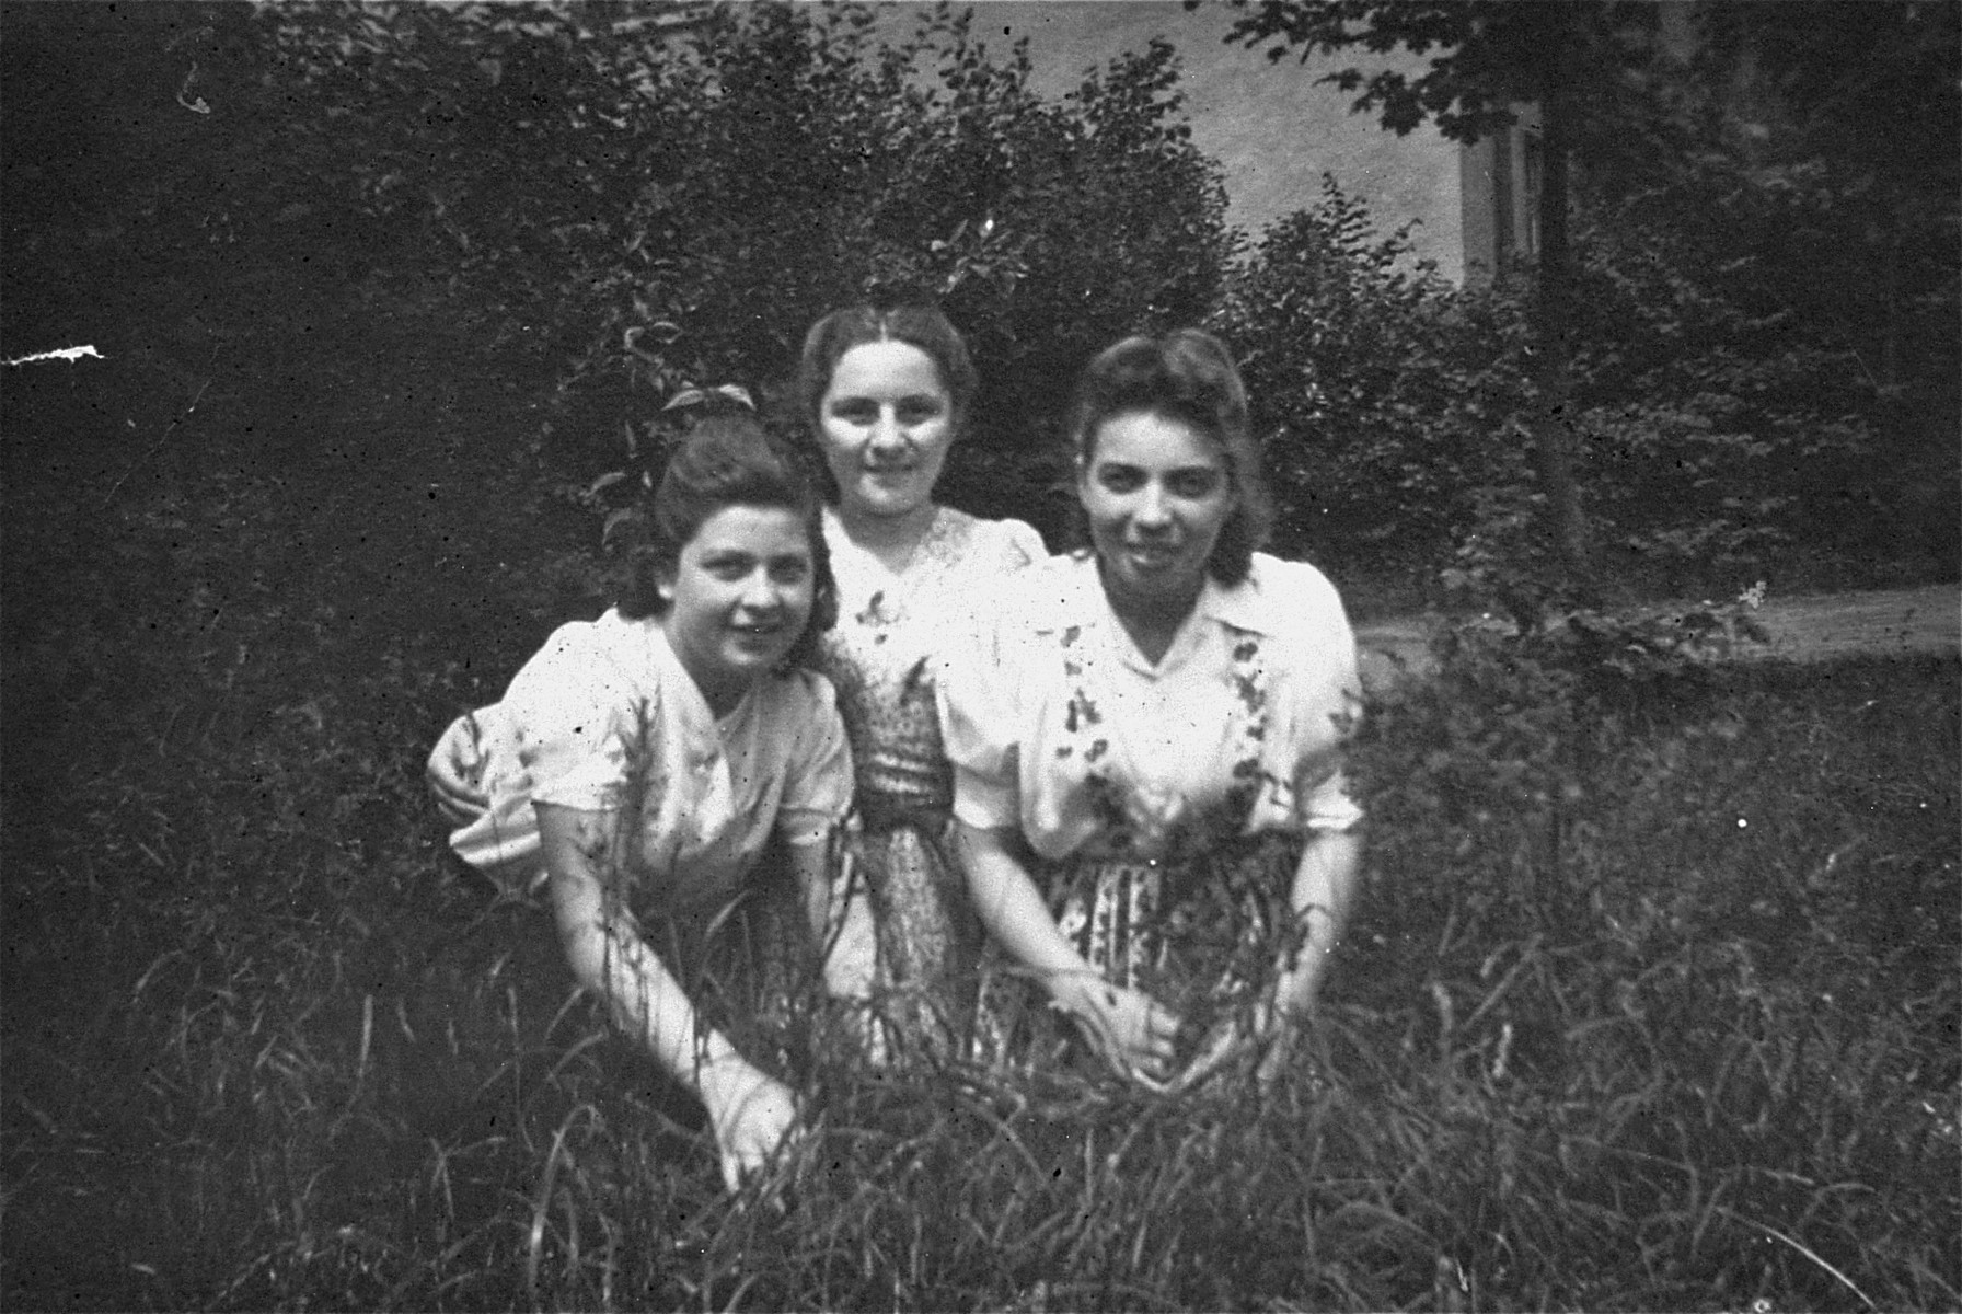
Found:
[[[1173,329],[1105,347],[1077,377],[1069,404],[1067,431],[1077,469],[1087,469],[1097,455],[1097,430],[1122,414],[1179,420],[1218,443],[1226,480],[1238,496],[1207,557],[1207,575],[1228,586],[1244,581],[1254,553],[1267,545],[1273,530],[1273,496],[1246,414],[1246,384],[1226,343],[1201,329]],[[1081,504],[1075,528],[1079,539],[1089,541]]]

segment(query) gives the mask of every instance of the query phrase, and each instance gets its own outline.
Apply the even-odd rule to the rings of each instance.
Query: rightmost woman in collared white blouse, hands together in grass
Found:
[[[1356,643],[1315,567],[1256,551],[1271,514],[1214,337],[1107,349],[1069,431],[1091,547],[950,645],[954,812],[1007,955],[1118,1071],[1183,1085],[1315,1004],[1358,869]]]

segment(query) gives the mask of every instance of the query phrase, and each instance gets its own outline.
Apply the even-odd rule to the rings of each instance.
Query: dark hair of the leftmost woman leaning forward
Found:
[[[708,416],[689,430],[667,459],[653,496],[616,526],[610,551],[618,561],[620,616],[663,616],[661,581],[681,565],[681,549],[708,518],[730,506],[769,506],[795,512],[810,541],[814,582],[810,622],[787,653],[791,665],[810,665],[818,635],[838,624],[838,581],[824,547],[824,504],[804,463],[748,414]]]

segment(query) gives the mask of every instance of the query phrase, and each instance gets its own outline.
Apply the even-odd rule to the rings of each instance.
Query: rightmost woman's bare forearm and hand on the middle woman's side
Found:
[[[957,822],[955,835],[989,934],[1042,979],[1054,1006],[1075,1018],[1118,1071],[1162,1079],[1173,1061],[1179,1016],[1142,990],[1105,981],[1083,961],[1010,851],[1008,832]]]

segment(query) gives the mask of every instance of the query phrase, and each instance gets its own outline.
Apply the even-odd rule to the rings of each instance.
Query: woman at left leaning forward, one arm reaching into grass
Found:
[[[771,839],[826,947],[826,988],[863,998],[873,973],[869,912],[830,883],[852,757],[832,686],[804,669],[836,588],[816,492],[748,418],[693,430],[638,533],[614,610],[559,628],[485,718],[518,763],[516,788],[492,794],[528,794],[573,977],[700,1096],[734,1188],[797,1124],[791,1088],[730,1037],[753,1018],[704,1016],[720,1002],[708,965],[742,953],[736,910],[763,902]],[[793,967],[748,975],[795,983]]]

